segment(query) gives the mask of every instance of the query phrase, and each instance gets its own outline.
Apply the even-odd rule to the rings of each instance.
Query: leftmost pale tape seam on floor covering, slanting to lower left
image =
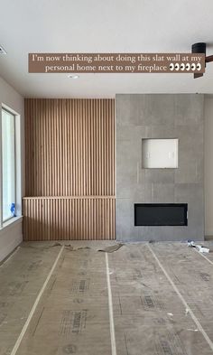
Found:
[[[62,246],[62,247],[60,248],[60,252],[59,252],[59,254],[58,254],[58,257],[56,257],[55,262],[54,262],[53,266],[51,267],[51,271],[50,271],[50,273],[48,274],[48,276],[47,276],[47,278],[46,278],[44,284],[42,285],[42,289],[41,289],[40,293],[37,295],[34,304],[32,305],[32,310],[31,310],[30,314],[28,315],[28,318],[27,318],[25,324],[23,325],[23,330],[22,330],[22,332],[20,333],[20,335],[19,335],[17,341],[16,341],[15,344],[14,344],[14,349],[12,350],[11,355],[15,355],[15,354],[16,354],[16,352],[17,352],[17,350],[18,350],[18,348],[19,348],[19,346],[20,346],[20,344],[21,344],[21,342],[22,342],[22,340],[23,340],[23,336],[24,336],[25,332],[27,331],[28,325],[30,324],[30,322],[31,322],[31,320],[32,320],[32,316],[33,316],[33,314],[34,314],[34,312],[35,312],[35,310],[36,310],[37,305],[39,304],[39,302],[40,302],[40,300],[41,300],[41,298],[42,298],[42,294],[43,294],[43,292],[44,292],[44,290],[45,290],[45,288],[46,288],[48,282],[50,281],[50,278],[51,278],[51,276],[52,276],[52,274],[53,274],[53,271],[54,271],[55,267],[56,267],[57,264],[58,264],[58,261],[59,261],[59,259],[60,259],[60,256],[61,256],[61,253],[62,253],[63,249],[64,249],[64,246]]]

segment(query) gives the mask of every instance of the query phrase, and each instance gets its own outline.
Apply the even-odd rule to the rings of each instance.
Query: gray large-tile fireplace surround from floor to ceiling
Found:
[[[177,169],[143,169],[143,138],[178,138]],[[188,226],[134,226],[134,203],[187,203]],[[203,95],[116,95],[116,239],[202,240]]]

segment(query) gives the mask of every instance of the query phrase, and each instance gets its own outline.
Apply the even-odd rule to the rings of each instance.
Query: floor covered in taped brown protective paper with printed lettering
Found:
[[[213,253],[70,244],[23,243],[0,266],[0,355],[213,353]]]

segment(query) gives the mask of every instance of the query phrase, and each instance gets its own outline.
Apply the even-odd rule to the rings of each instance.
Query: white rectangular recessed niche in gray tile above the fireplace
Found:
[[[142,139],[142,167],[178,168],[178,139]]]

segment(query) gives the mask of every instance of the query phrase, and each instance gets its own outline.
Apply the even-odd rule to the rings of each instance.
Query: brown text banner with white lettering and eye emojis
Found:
[[[203,73],[204,53],[29,53],[30,73]]]

